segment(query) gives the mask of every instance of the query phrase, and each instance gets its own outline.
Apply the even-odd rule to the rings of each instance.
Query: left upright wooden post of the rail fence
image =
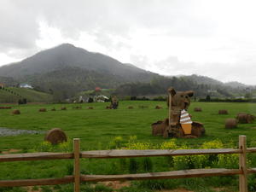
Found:
[[[74,192],[80,192],[80,139],[73,139],[73,174],[74,174]]]

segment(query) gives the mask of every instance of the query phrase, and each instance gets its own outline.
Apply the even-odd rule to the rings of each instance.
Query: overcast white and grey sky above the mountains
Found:
[[[255,9],[254,0],[1,0],[0,66],[69,43],[154,73],[256,84]]]

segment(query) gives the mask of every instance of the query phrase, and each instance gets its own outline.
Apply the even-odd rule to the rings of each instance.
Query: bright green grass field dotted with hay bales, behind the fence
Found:
[[[116,148],[118,146],[114,146],[113,143],[117,143],[117,137],[119,137],[118,145],[120,147],[125,147],[125,144],[129,143],[129,139],[132,136],[137,136],[137,143],[151,143],[154,148],[157,148],[157,145],[160,146],[161,143],[172,141],[171,139],[153,137],[151,135],[151,124],[157,120],[165,119],[168,115],[166,102],[119,102],[118,110],[105,109],[107,105],[108,103],[15,105],[13,108],[19,109],[20,115],[10,114],[12,109],[0,109],[0,127],[35,131],[47,131],[51,128],[59,127],[67,133],[70,140],[74,137],[79,137],[82,150]],[[139,108],[142,105],[148,106],[148,108]],[[154,109],[156,105],[162,106],[163,109]],[[61,107],[64,106],[67,107],[67,110],[61,111]],[[82,106],[82,109],[73,109],[74,106]],[[94,109],[87,109],[89,106]],[[128,109],[128,106],[133,106],[134,109]],[[194,112],[193,108],[195,107],[201,107],[203,112]],[[48,111],[39,113],[39,108],[47,108]],[[55,108],[56,111],[50,111],[51,108]],[[219,109],[227,109],[229,114],[218,115]],[[224,119],[235,118],[236,113],[239,112],[255,115],[256,104],[192,102],[189,113],[192,114],[194,121],[200,121],[204,124],[207,134],[205,137],[196,139],[177,139],[175,143],[178,147],[186,144],[190,148],[200,148],[203,143],[218,139],[221,143],[224,143],[224,147],[231,146],[236,148],[238,136],[246,135],[248,145],[256,147],[256,121],[252,124],[238,125],[234,130],[224,129]],[[38,148],[40,148],[39,151],[42,151],[44,150],[44,146],[42,147],[43,141],[44,134],[0,137],[0,150],[7,151],[10,148],[15,148],[20,149],[21,152],[33,152],[38,151]],[[71,144],[69,147],[71,147]],[[46,148],[46,150],[49,150],[49,148]],[[51,150],[61,151],[61,148],[52,148]],[[150,160],[154,165],[151,170],[153,172],[170,171],[174,168],[166,163],[166,158],[164,157],[150,158]],[[143,159],[138,159],[137,162],[138,165],[144,165]],[[71,165],[72,161],[70,160],[1,163],[0,179],[63,177],[72,174]],[[129,173],[131,171],[129,171],[129,165],[131,166],[131,160],[82,160],[82,172],[86,174]],[[252,162],[253,165],[255,167],[256,162]],[[137,172],[143,172],[143,166],[141,166],[137,169]],[[230,182],[227,182],[227,180]],[[237,181],[237,177],[222,177],[222,179],[212,177],[212,179],[179,179],[168,181],[167,183],[165,183],[165,180],[151,183],[135,182],[131,187],[120,189],[119,191],[154,191],[154,189],[184,187],[195,191],[210,192],[214,191],[212,187],[214,188],[219,184],[228,186],[227,190],[224,191],[236,191]],[[253,184],[251,183],[251,185]],[[256,184],[254,183],[254,185]],[[101,186],[96,186],[101,188]],[[59,186],[56,191],[72,191],[70,188],[72,186]],[[251,191],[254,191],[256,188],[251,186],[251,189]],[[2,191],[15,190],[18,191],[16,188],[3,189]],[[108,191],[108,189],[102,187],[102,190],[92,190],[90,186],[84,185],[84,191]]]

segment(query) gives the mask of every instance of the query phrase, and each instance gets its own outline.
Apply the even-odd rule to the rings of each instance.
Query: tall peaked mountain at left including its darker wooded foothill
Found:
[[[73,44],[61,44],[23,61],[0,67],[0,80],[26,82],[37,90],[63,98],[96,86],[116,88],[129,82],[150,82],[158,76]]]

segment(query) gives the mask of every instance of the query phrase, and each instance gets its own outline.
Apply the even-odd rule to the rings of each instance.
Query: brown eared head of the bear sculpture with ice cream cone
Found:
[[[193,90],[187,91],[178,91],[174,90],[173,88],[169,88],[168,92],[172,96],[172,107],[177,107],[180,109],[187,110],[190,105],[190,97],[194,95]],[[168,106],[169,106],[169,99],[168,99]]]

